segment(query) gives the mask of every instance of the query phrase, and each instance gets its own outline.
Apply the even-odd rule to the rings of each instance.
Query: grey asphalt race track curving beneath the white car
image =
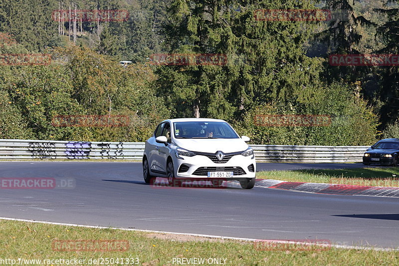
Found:
[[[258,170],[363,167],[258,163]],[[227,237],[399,246],[397,198],[144,183],[141,163],[0,162],[0,178],[73,178],[71,189],[0,189],[0,216]]]

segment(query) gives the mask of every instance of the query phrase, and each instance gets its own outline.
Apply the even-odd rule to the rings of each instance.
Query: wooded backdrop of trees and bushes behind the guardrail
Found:
[[[352,117],[335,118],[328,128],[267,129],[273,134],[257,128],[268,143],[368,144],[378,136],[376,116],[379,130],[399,118],[396,66],[328,64],[331,53],[399,53],[397,0],[73,2],[77,9],[126,9],[129,17],[77,21],[73,43],[69,21],[51,17],[54,10],[68,9],[69,1],[0,3],[0,53],[41,52],[53,58],[45,66],[0,66],[2,136],[144,141],[163,118],[193,116],[225,119],[251,131],[245,127],[248,117],[267,111]],[[314,8],[332,9],[333,20],[254,16],[258,9]],[[221,54],[227,61],[151,65],[156,53]],[[133,63],[124,68],[120,60]],[[130,123],[123,128],[51,124],[54,115],[75,114],[126,114]],[[364,136],[354,135],[362,130]]]

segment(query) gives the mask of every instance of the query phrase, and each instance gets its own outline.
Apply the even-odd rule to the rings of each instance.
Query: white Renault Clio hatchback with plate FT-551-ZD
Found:
[[[252,148],[225,121],[205,118],[168,119],[146,141],[143,174],[146,183],[166,177],[170,184],[209,180],[237,180],[244,189],[255,184]]]

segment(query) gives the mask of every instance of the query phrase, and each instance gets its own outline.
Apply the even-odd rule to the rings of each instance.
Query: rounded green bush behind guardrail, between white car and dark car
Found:
[[[253,144],[357,146],[375,143],[378,118],[366,102],[350,91],[350,87],[334,83],[315,92],[317,100],[308,103],[275,101],[259,105],[236,122],[240,135]],[[255,125],[258,115],[312,114],[329,115],[328,126],[262,126]]]

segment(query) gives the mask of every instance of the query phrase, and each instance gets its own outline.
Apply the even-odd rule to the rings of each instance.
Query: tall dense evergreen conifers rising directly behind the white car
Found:
[[[228,119],[270,101],[309,101],[319,60],[303,43],[317,23],[260,21],[256,9],[314,8],[296,0],[175,0],[164,27],[170,53],[226,54],[225,66],[159,67],[157,87],[177,116]]]

